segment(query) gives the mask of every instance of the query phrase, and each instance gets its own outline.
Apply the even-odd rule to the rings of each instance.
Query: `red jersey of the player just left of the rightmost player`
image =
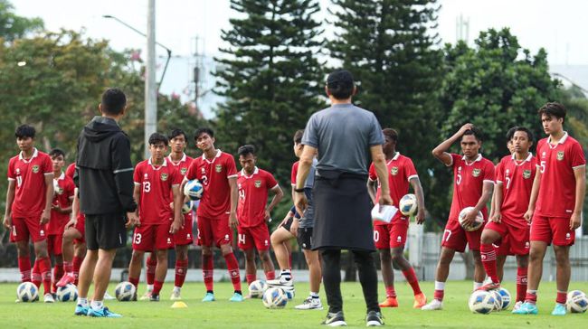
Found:
[[[531,199],[537,159],[531,153],[522,162],[515,155],[507,155],[497,165],[496,183],[502,184],[503,221],[518,228],[528,228],[523,218]]]

